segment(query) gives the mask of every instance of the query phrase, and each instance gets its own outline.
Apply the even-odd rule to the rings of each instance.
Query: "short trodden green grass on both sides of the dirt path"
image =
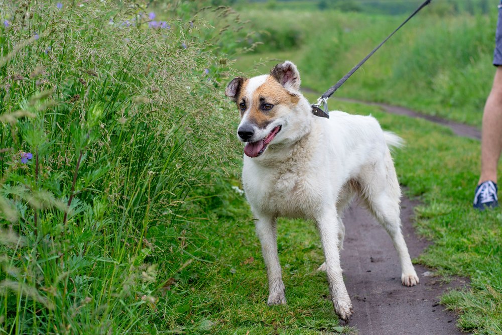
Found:
[[[378,107],[339,101],[337,107],[371,114],[384,129],[406,140],[406,147],[394,155],[399,179],[409,197],[422,201],[416,209],[416,227],[434,242],[417,261],[445,276],[468,276],[471,289],[452,291],[442,303],[460,314],[462,329],[499,333],[502,216],[496,210],[480,213],[471,207],[479,143],[426,121],[385,114]],[[311,222],[280,220],[278,246],[288,305],[268,307],[266,270],[248,206],[238,194],[221,196],[229,198],[225,211],[232,211],[216,214],[206,231],[205,248],[215,263],[190,264],[189,271],[204,276],[178,287],[179,295],[173,295],[174,310],[191,304],[190,313],[178,322],[205,322],[211,324],[209,333],[224,334],[354,333],[340,327],[325,298],[325,276],[315,271],[323,256]]]

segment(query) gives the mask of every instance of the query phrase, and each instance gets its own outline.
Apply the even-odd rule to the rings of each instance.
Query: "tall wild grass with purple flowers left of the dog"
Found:
[[[233,150],[221,46],[240,42],[187,2],[151,11],[0,4],[0,333],[169,329],[171,286],[205,257]]]

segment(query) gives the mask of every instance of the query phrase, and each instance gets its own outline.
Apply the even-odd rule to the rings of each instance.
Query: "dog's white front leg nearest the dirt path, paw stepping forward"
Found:
[[[329,293],[335,313],[345,322],[352,316],[352,302],[343,283],[338,250],[338,227],[336,209],[323,212],[317,219],[317,228],[321,236],[324,258],[326,260],[326,276]]]

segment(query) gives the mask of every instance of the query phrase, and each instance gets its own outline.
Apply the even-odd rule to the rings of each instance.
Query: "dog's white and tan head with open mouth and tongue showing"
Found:
[[[271,143],[291,139],[309,113],[308,102],[300,93],[300,73],[290,61],[277,64],[270,74],[234,78],[225,94],[240,111],[237,137],[246,143],[248,157],[260,156]]]

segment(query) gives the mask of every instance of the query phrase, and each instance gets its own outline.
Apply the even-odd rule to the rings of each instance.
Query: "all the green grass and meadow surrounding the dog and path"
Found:
[[[308,2],[201,10],[211,3],[0,3],[0,334],[353,332],[321,298],[320,243],[298,221],[279,225],[289,304],[266,306],[223,91],[284,59],[324,91],[404,17]],[[335,97],[479,126],[494,11],[424,10]],[[502,333],[502,214],[471,208],[479,143],[378,107],[330,106],[407,141],[398,175],[434,242],[417,261],[470,278],[442,297],[459,327]]]

